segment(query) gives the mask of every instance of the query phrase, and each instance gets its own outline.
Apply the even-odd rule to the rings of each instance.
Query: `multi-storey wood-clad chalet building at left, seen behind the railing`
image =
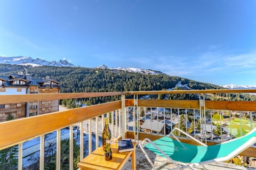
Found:
[[[9,77],[0,76],[1,95],[25,95],[25,94],[56,94],[59,93],[60,83],[51,80],[49,76],[45,79],[32,79],[31,75],[17,75]],[[59,111],[59,101],[35,101],[28,103],[0,105],[0,122],[11,113],[14,119],[35,116]]]

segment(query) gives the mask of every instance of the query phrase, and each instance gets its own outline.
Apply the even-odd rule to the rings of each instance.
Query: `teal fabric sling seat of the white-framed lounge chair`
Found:
[[[178,142],[170,137],[163,137],[153,141],[161,150],[171,159],[182,163],[200,163],[207,160],[226,157],[234,150],[242,147],[252,137],[256,139],[256,132],[245,135],[229,142],[220,143],[214,146],[194,146],[187,143]],[[256,141],[256,140],[255,140]],[[157,155],[164,157],[151,143],[147,143],[145,148],[151,150]]]

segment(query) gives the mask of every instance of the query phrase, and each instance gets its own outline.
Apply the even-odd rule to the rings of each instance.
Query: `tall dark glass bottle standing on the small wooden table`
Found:
[[[102,147],[103,147],[103,152],[105,153],[106,160],[110,160],[112,158],[110,139],[111,139],[111,131],[108,127],[108,118],[105,118],[105,127],[102,132]]]

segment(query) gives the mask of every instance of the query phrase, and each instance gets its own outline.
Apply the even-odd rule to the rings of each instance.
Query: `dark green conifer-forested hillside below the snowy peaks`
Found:
[[[18,71],[26,72],[24,66],[0,64],[0,74],[17,74]],[[85,67],[56,67],[38,66],[26,67],[33,78],[45,78],[50,75],[51,79],[61,83],[60,92],[110,92],[110,91],[150,91],[167,90],[181,84],[188,84],[192,89],[223,89],[214,84],[197,82],[180,77],[172,77],[165,74],[146,75],[108,69],[91,69]],[[177,90],[183,90],[176,88]],[[132,96],[131,96],[132,97]],[[151,96],[154,98],[191,99],[195,95],[170,95]],[[215,98],[214,98],[215,97]],[[209,98],[209,97],[208,97]],[[216,100],[251,100],[250,96],[244,95],[221,95],[211,96]],[[103,101],[115,100],[116,97],[101,97],[90,99],[90,103],[102,103]],[[88,101],[86,99],[86,101]]]

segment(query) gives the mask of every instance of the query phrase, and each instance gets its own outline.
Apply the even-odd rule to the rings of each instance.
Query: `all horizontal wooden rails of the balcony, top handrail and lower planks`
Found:
[[[99,96],[116,96],[131,94],[173,94],[173,93],[238,93],[256,92],[253,90],[186,90],[186,91],[145,91],[145,92],[99,92],[74,94],[30,94],[30,95],[1,95],[0,104],[22,103],[29,101],[57,100],[68,98],[87,98]],[[125,106],[134,106],[133,99],[126,99]],[[138,100],[138,106],[166,108],[199,108],[198,100]],[[35,117],[22,118],[0,123],[0,149],[13,146],[25,140],[67,127],[88,118],[120,109],[121,101],[93,105],[88,107],[54,112]],[[255,101],[205,101],[206,109],[225,109],[230,111],[256,111]],[[11,134],[11,135],[10,135]]]

